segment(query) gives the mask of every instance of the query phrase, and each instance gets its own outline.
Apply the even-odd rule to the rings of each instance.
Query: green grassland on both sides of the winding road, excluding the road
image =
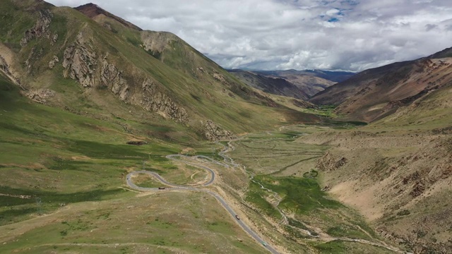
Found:
[[[176,135],[172,142],[151,138],[143,131],[148,126],[144,122],[120,116],[102,121],[35,104],[18,96],[17,87],[8,80],[3,78],[0,84],[0,177],[4,179],[0,200],[6,204],[0,207],[0,229],[9,232],[0,235],[0,241],[6,242],[1,251],[262,251],[210,196],[172,192],[143,196],[122,188],[129,171],[142,169],[156,171],[172,183],[202,182],[206,171],[172,162],[165,155],[211,155],[219,151],[218,145],[188,144],[175,140]],[[117,121],[132,131],[125,131]],[[287,217],[282,231],[266,237],[290,251],[328,253],[331,248],[367,246],[322,243],[317,236],[379,241],[355,211],[321,191],[321,174],[312,169],[328,147],[294,142],[305,133],[325,130],[328,127],[293,126],[249,134],[234,143],[232,157],[255,174],[251,182],[238,169],[216,169],[228,188],[244,188],[243,201],[256,209],[245,213],[258,228],[273,228],[271,221]],[[129,140],[147,144],[126,145]],[[146,176],[135,180],[139,186],[161,186]],[[146,203],[148,207],[143,207]],[[45,239],[42,231],[47,232]],[[219,247],[222,244],[228,247]]]

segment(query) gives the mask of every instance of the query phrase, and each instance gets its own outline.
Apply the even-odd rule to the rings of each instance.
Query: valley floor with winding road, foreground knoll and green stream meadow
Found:
[[[156,176],[123,174],[118,191],[110,198],[68,202],[44,215],[34,210],[28,217],[1,226],[5,234],[0,234],[0,250],[262,253],[273,246],[273,253],[400,252],[355,210],[321,189],[322,173],[316,169],[316,160],[328,146],[297,140],[329,129],[292,126],[211,144],[219,151],[215,156],[179,156],[165,164],[146,160],[142,167],[136,165],[127,171],[155,171],[165,182]],[[191,149],[184,151],[190,155]],[[216,173],[216,179],[207,167]],[[147,189],[134,192],[124,183],[130,179]],[[187,186],[187,190],[163,187],[168,181]],[[196,191],[197,186],[210,182],[213,185],[203,189],[207,192]],[[210,193],[222,197],[240,219],[227,214]],[[33,206],[30,209],[40,209],[37,203],[29,205]],[[242,224],[255,231],[261,241],[251,238]]]

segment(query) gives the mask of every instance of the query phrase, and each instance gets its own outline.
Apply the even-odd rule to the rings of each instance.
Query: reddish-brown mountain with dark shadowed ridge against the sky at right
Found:
[[[345,119],[376,121],[413,104],[452,81],[451,49],[358,73],[319,92],[314,104],[338,105]]]

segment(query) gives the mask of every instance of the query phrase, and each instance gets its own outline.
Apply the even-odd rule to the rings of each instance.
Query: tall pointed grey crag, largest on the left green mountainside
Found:
[[[76,42],[73,42],[64,51],[63,67],[64,77],[68,76],[83,87],[93,87],[95,85],[94,72],[96,66],[96,53],[85,43],[83,34],[79,33]]]

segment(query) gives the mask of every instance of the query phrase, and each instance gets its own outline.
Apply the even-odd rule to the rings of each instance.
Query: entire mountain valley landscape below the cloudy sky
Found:
[[[226,71],[1,0],[0,253],[450,253],[452,54]]]

